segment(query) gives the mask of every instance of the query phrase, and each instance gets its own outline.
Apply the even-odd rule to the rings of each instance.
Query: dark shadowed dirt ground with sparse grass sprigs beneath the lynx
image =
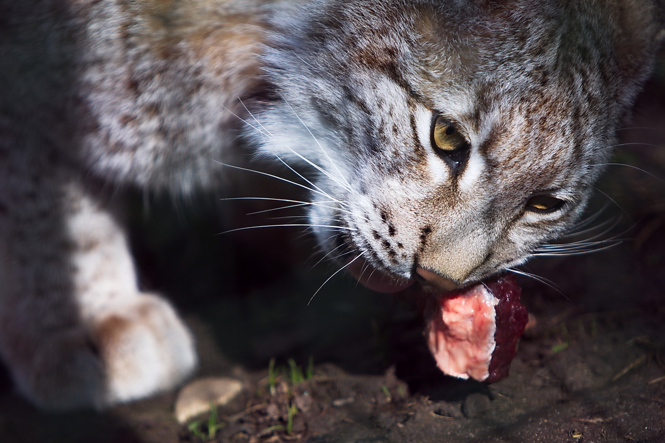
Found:
[[[520,279],[537,323],[509,378],[440,374],[408,294],[336,277],[308,305],[334,268],[307,258],[313,243],[295,230],[215,235],[206,215],[216,206],[165,215],[156,202],[132,222],[142,283],[170,295],[196,333],[197,376],[234,376],[245,392],[181,426],[174,392],[101,414],[43,414],[3,375],[0,442],[665,442],[665,59],[631,125],[614,159],[630,166],[609,166],[597,199],[601,221],[620,218],[605,237],[625,241],[524,268],[553,287]],[[219,205],[236,206],[226,226],[265,223],[229,215],[252,204]],[[290,380],[289,359],[304,381]]]

